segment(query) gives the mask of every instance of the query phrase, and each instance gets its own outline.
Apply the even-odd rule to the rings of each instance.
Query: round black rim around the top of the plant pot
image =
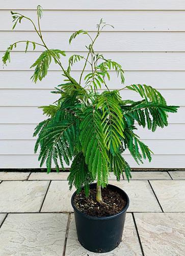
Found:
[[[90,186],[91,186],[91,185],[96,185],[96,183],[91,183]],[[77,190],[73,193],[73,195],[72,195],[72,197],[71,197],[71,205],[72,205],[73,209],[74,209],[75,211],[77,211],[78,214],[84,216],[85,218],[92,219],[92,220],[100,220],[100,221],[101,221],[101,220],[114,219],[115,217],[117,217],[117,216],[123,214],[123,212],[126,211],[127,208],[128,208],[128,206],[129,206],[129,198],[128,198],[128,195],[127,195],[127,194],[125,193],[125,191],[124,191],[123,189],[121,189],[120,187],[117,187],[117,186],[112,185],[112,184],[108,184],[107,186],[109,186],[109,187],[114,187],[114,188],[118,189],[118,190],[121,192],[121,194],[123,194],[123,195],[125,196],[125,198],[126,198],[126,205],[123,207],[123,209],[122,209],[120,212],[118,212],[118,214],[111,215],[111,216],[105,216],[105,217],[95,217],[95,216],[90,216],[90,215],[84,214],[84,212],[81,212],[80,210],[77,209],[77,207],[74,205],[74,202],[73,202],[73,201],[74,201],[74,196],[76,195]],[[83,188],[83,187],[82,187],[82,188]]]

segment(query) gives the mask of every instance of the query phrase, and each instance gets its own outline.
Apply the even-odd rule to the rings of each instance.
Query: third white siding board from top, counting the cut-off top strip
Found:
[[[86,51],[85,45],[90,44],[87,35],[77,36],[69,45],[72,32],[43,32],[44,40],[48,47],[63,49],[65,51]],[[95,32],[90,33],[94,37]],[[12,38],[13,35],[13,38]],[[38,35],[32,31],[0,31],[0,51],[5,51],[12,41],[31,40],[39,42]],[[163,52],[184,51],[185,33],[183,32],[102,32],[94,46],[95,51],[100,52]],[[114,47],[113,47],[114,46]],[[14,51],[24,51],[25,43],[21,42]],[[30,45],[28,51],[32,51]],[[42,51],[43,47],[37,46],[36,51]]]

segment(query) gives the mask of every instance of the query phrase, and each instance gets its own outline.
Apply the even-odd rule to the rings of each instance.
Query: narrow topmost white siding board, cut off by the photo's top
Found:
[[[39,4],[48,10],[184,10],[183,0],[40,0]],[[1,0],[1,9],[36,9],[37,0]]]

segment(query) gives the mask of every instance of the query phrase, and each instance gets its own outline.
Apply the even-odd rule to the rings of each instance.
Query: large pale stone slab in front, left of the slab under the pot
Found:
[[[0,229],[2,256],[62,256],[67,214],[9,214]]]

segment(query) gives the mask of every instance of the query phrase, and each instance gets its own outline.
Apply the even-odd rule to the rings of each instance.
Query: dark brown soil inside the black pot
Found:
[[[126,202],[117,191],[108,188],[101,190],[102,202],[96,201],[96,189],[90,189],[89,197],[85,196],[84,190],[74,197],[74,205],[78,210],[94,217],[105,217],[118,214]]]

